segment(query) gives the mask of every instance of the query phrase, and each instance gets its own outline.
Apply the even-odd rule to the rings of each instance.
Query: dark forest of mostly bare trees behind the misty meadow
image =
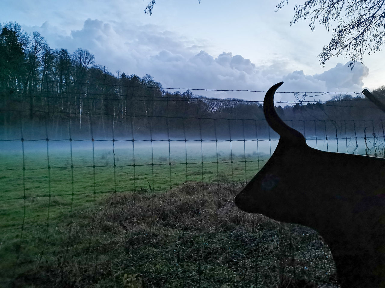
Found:
[[[385,86],[373,93],[384,98]],[[0,97],[2,139],[270,137],[258,101],[169,92],[148,74],[115,76],[88,50],[54,50],[38,31],[30,35],[15,22],[1,27]],[[353,131],[355,121],[384,118],[363,95],[280,104],[280,117],[302,132]]]

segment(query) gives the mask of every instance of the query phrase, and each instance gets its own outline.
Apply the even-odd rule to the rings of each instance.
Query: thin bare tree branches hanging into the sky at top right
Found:
[[[281,9],[288,0],[277,5]],[[382,50],[385,41],[385,0],[307,0],[305,4],[295,5],[295,14],[290,25],[298,20],[310,18],[310,29],[314,31],[315,22],[330,30],[333,28],[330,43],[318,55],[321,65],[333,56],[344,55],[352,61],[350,67],[363,55],[371,55]]]

